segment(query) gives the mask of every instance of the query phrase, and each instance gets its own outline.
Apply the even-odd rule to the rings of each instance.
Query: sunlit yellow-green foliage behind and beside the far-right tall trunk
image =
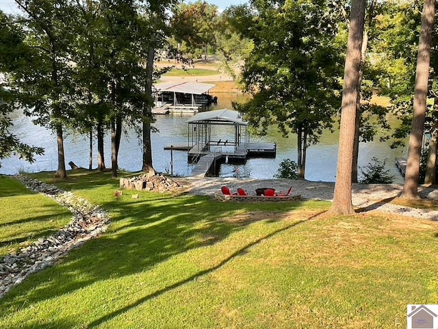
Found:
[[[383,1],[374,20],[370,72],[381,93],[391,97],[391,111],[400,121],[392,132],[392,148],[404,146],[411,132],[415,67],[417,64],[422,5],[418,1]],[[437,27],[435,26],[435,29]],[[433,43],[438,42],[433,34]],[[435,49],[435,48],[433,48]],[[431,52],[429,97],[437,93],[436,51]],[[435,96],[433,96],[435,97]],[[425,130],[430,130],[435,114],[430,104],[426,110]]]

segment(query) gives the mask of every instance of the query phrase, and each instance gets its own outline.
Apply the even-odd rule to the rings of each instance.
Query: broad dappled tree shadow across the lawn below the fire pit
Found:
[[[112,197],[111,201],[101,204],[111,213],[109,232],[73,250],[56,267],[36,273],[12,289],[4,297],[4,308],[1,308],[20,308],[23,300],[30,306],[94,282],[140,273],[177,254],[217,243],[251,223],[228,223],[220,221],[222,218],[240,211],[271,211],[273,207],[272,204],[221,203],[212,202],[208,197],[172,197],[157,193],[149,193],[147,199],[124,197],[125,200]],[[274,207],[277,212],[286,212],[299,205],[295,202]],[[242,252],[244,250],[238,253]],[[208,271],[212,270],[214,268]],[[197,276],[204,273],[207,271]]]

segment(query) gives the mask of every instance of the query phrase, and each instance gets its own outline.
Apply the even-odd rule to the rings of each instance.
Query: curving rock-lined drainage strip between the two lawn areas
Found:
[[[70,223],[55,234],[20,249],[16,254],[0,259],[0,298],[32,273],[54,265],[57,260],[84,241],[90,240],[107,228],[107,212],[86,199],[56,186],[33,180],[23,175],[14,176],[31,191],[47,195],[72,212]]]

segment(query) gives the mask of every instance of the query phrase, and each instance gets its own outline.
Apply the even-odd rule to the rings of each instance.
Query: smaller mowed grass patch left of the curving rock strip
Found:
[[[0,257],[66,225],[71,212],[48,197],[0,175]]]

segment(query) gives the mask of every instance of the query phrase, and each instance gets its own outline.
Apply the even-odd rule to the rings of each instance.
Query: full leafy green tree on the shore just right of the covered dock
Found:
[[[266,134],[276,125],[298,135],[298,178],[305,178],[307,147],[333,125],[339,108],[339,49],[336,22],[324,1],[257,1],[242,18],[242,34],[253,40],[242,72],[253,95],[235,108]],[[254,14],[256,13],[256,14]]]

